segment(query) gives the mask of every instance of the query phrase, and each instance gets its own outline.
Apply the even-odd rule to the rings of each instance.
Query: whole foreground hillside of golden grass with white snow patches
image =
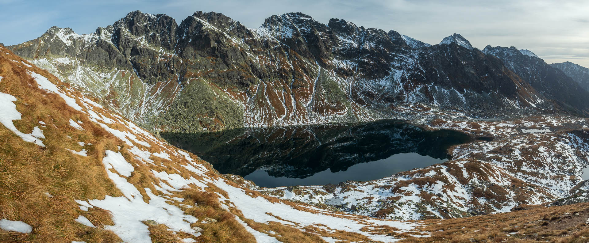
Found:
[[[589,204],[392,221],[284,201],[0,46],[0,242],[588,242]]]

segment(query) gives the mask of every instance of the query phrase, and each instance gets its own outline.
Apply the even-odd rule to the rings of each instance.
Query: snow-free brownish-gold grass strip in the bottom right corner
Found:
[[[589,229],[584,224],[588,217],[589,204],[584,203],[469,218],[430,219],[423,221],[425,227],[421,230],[432,232],[432,237],[399,242],[589,242]]]

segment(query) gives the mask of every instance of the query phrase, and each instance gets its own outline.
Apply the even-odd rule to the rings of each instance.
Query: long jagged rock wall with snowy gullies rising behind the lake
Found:
[[[461,35],[446,39],[429,46],[302,13],[250,29],[215,12],[177,25],[135,11],[90,35],[54,27],[9,48],[156,131],[407,118],[396,108],[415,106],[489,116],[554,109],[561,98]]]

